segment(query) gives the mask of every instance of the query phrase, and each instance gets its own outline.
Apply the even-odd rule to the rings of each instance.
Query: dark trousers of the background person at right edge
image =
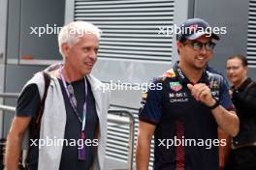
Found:
[[[256,146],[231,150],[225,170],[256,170]]]

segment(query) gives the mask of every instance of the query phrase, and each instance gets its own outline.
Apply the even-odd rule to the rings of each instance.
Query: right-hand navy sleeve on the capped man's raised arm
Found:
[[[229,88],[227,83],[224,82],[223,77],[220,80],[220,96],[219,96],[220,104],[226,108],[227,110],[235,110],[235,107],[232,103],[232,100],[229,95]]]

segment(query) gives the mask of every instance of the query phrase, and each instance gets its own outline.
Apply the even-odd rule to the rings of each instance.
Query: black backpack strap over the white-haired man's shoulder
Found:
[[[41,120],[42,120],[42,116],[43,116],[44,109],[45,109],[45,102],[46,102],[46,99],[48,96],[48,87],[49,87],[49,83],[50,83],[50,76],[45,71],[42,71],[42,73],[43,73],[44,80],[45,80],[45,91],[44,91],[44,96],[41,99],[41,102],[37,107],[36,115],[30,123],[29,139],[35,139],[36,136],[40,133]],[[28,152],[25,157],[25,167],[23,168],[25,170],[28,169],[28,156],[30,155],[30,153],[31,153],[31,146],[29,145]]]

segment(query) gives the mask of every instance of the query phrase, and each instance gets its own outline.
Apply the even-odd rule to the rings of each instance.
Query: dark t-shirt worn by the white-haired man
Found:
[[[60,79],[59,79],[59,83],[61,86],[64,101],[65,101],[66,116],[67,116],[64,138],[68,139],[68,141],[70,141],[70,139],[72,139],[73,141],[78,141],[80,139],[81,124],[76,113],[73,110],[70,100],[67,97],[63,83]],[[75,97],[78,101],[78,112],[80,113],[80,118],[81,118],[82,107],[85,100],[84,79],[74,81],[71,84],[74,88]],[[92,141],[94,138],[94,133],[98,126],[99,120],[96,112],[95,99],[93,97],[91,87],[89,83],[87,83],[87,85],[88,85],[87,87],[88,94],[86,99],[87,112],[86,112],[85,135],[87,140],[90,139]],[[37,106],[39,104],[40,104],[40,95],[39,95],[37,85],[32,84],[27,86],[17,100],[16,116],[34,117],[36,114],[35,112],[36,112]],[[61,124],[61,123],[56,123],[56,124]],[[39,138],[39,136],[40,135],[38,134],[35,138]],[[86,147],[85,148],[86,159],[79,160],[78,146],[64,145],[62,150],[59,169],[60,170],[70,170],[70,169],[88,170],[90,165],[92,164],[94,147],[93,146],[85,146],[85,147]],[[38,147],[32,146],[31,153],[28,157],[29,169],[31,170],[38,169],[38,153],[39,153]]]

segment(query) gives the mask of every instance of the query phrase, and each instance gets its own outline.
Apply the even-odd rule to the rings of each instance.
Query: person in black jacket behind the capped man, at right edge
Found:
[[[248,77],[248,62],[242,55],[230,56],[226,71],[232,83],[230,95],[240,118],[240,132],[233,137],[225,170],[255,170],[256,83]]]

